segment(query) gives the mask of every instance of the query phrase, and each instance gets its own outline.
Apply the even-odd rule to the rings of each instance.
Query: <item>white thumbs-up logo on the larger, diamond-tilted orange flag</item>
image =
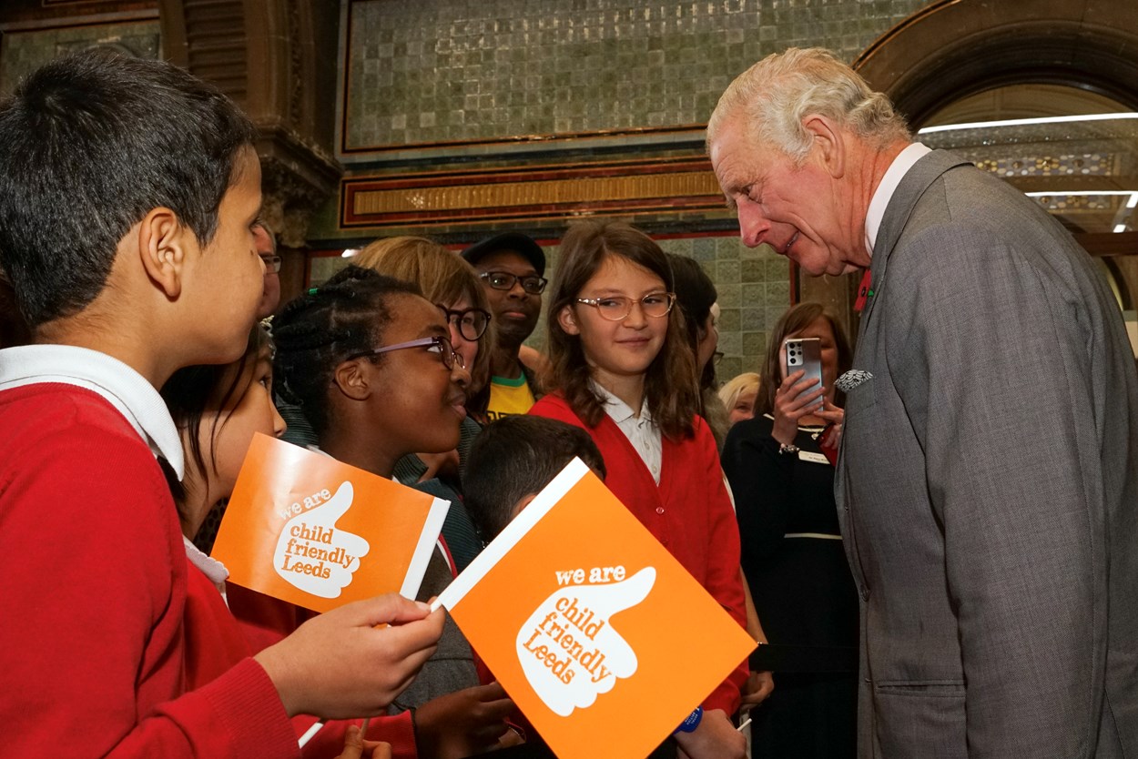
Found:
[[[636,673],[636,652],[609,620],[648,597],[654,584],[655,569],[645,567],[619,583],[561,587],[521,626],[521,669],[554,713],[592,707]]]

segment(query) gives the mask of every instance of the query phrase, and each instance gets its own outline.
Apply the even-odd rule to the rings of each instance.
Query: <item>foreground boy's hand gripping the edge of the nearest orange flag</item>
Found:
[[[389,593],[310,619],[254,658],[290,717],[373,716],[435,653],[444,618],[442,610],[431,613],[426,603]]]

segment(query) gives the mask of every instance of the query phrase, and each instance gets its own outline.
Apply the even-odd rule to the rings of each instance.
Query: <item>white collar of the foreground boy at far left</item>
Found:
[[[98,393],[118,410],[155,456],[182,479],[182,438],[158,390],[105,353],[72,345],[24,345],[0,350],[0,390],[59,382]]]

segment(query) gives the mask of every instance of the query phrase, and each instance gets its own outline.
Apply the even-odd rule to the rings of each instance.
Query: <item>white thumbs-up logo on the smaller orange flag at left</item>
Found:
[[[321,599],[337,599],[352,581],[360,558],[371,548],[358,535],[336,527],[354,496],[352,482],[344,482],[331,498],[284,522],[273,567],[287,583]]]

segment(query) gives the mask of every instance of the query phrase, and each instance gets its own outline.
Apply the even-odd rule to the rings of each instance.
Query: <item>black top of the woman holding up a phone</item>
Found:
[[[856,646],[857,591],[842,542],[833,539],[834,468],[815,440],[820,429],[799,428],[794,445],[824,463],[780,454],[773,428],[770,416],[739,422],[723,452],[762,629],[770,643]]]

